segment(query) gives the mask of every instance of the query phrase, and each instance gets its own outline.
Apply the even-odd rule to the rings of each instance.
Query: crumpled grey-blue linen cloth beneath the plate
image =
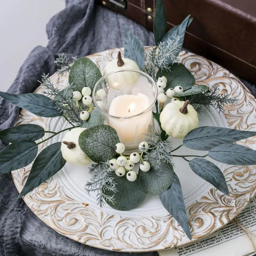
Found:
[[[49,6],[50,8],[50,6]],[[67,56],[86,56],[99,51],[122,47],[125,26],[143,42],[154,45],[153,34],[135,22],[95,6],[94,0],[66,0],[66,8],[52,17],[47,24],[49,43],[31,51],[18,72],[10,93],[33,92],[43,73],[53,74],[57,67],[56,56],[64,52]],[[41,33],[41,31],[39,31]],[[255,87],[247,84],[255,95]],[[19,108],[0,99],[0,130],[17,120]],[[0,142],[0,148],[6,146]],[[122,253],[86,246],[64,237],[48,227],[17,199],[18,192],[11,175],[0,176],[0,255],[36,256],[156,256],[157,252]]]

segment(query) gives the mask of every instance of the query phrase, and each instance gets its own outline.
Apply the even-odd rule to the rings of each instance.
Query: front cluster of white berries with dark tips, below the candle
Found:
[[[142,151],[145,151],[148,148],[149,146],[145,141],[141,142],[139,145],[139,149]],[[132,169],[134,168],[134,164],[140,161],[140,169],[143,172],[147,172],[150,170],[150,163],[148,163],[147,161],[142,161],[140,154],[138,154],[137,152],[132,153],[129,157],[123,156],[122,153],[125,150],[125,146],[123,143],[116,144],[114,149],[116,153],[120,154],[120,156],[117,159],[110,159],[109,165],[112,170],[115,170],[115,174],[119,177],[124,176],[125,172],[128,171],[126,174],[126,178],[129,181],[136,180],[137,174]]]

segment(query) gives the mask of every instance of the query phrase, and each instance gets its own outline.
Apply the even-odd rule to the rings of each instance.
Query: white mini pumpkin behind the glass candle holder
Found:
[[[108,74],[113,71],[123,69],[135,69],[140,70],[137,63],[128,58],[121,58],[121,52],[118,52],[118,58],[110,61],[104,68],[103,74]],[[132,89],[137,82],[140,74],[133,71],[118,72],[109,75],[106,78],[109,86],[115,90],[120,90],[121,87],[129,86]]]

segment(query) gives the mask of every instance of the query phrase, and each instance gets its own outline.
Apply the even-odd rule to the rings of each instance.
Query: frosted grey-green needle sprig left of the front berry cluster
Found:
[[[110,175],[113,170],[109,167],[108,161],[104,163],[92,164],[89,168],[89,173],[92,178],[85,184],[84,189],[87,191],[88,195],[91,192],[97,192],[96,200],[97,204],[102,207],[105,204],[104,200],[108,200],[115,204],[114,195],[106,195],[107,190],[117,192],[116,183],[114,182],[114,176]]]

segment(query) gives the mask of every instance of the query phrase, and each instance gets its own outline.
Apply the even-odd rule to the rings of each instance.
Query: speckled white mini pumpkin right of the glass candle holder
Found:
[[[160,114],[162,129],[173,138],[184,138],[198,125],[198,115],[189,101],[173,101]]]

